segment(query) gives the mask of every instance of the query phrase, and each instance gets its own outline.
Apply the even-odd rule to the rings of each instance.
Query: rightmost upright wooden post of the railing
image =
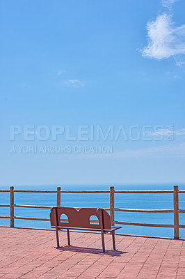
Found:
[[[179,197],[178,186],[173,186],[173,216],[174,216],[174,239],[179,239]]]

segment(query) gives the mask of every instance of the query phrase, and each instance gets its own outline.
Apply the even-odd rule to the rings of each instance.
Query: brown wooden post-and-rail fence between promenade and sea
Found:
[[[10,190],[0,190],[0,193],[10,193],[10,204],[0,204],[0,206],[10,207],[10,216],[0,216],[0,218],[10,218],[10,227],[14,227],[15,219],[22,220],[39,220],[39,221],[49,221],[49,218],[32,218],[32,217],[21,217],[14,215],[15,207],[25,207],[33,209],[51,209],[52,206],[38,206],[38,205],[25,205],[25,204],[14,204],[14,193],[56,193],[56,206],[61,206],[61,193],[75,193],[75,194],[86,194],[86,193],[109,193],[110,195],[110,208],[106,208],[106,211],[110,211],[111,215],[111,225],[121,224],[121,225],[134,225],[134,226],[145,226],[145,227],[173,227],[174,228],[174,239],[179,239],[179,228],[185,228],[185,225],[179,225],[179,213],[185,213],[184,209],[179,209],[179,193],[185,193],[185,190],[179,190],[178,186],[174,186],[173,190],[114,190],[111,186],[110,190],[61,190],[61,187],[57,187],[57,190],[15,190],[13,186]],[[118,209],[115,208],[115,194],[173,194],[173,209]],[[79,208],[76,208],[79,209]],[[173,213],[174,223],[173,225],[167,224],[149,224],[149,223],[131,223],[116,221],[114,218],[115,211],[122,212],[140,212],[140,213]],[[97,221],[94,221],[95,223]]]

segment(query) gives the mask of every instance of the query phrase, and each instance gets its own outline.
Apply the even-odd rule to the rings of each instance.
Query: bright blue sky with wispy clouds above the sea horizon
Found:
[[[183,0],[1,1],[0,184],[184,183],[184,10]],[[113,136],[98,140],[97,127]]]

